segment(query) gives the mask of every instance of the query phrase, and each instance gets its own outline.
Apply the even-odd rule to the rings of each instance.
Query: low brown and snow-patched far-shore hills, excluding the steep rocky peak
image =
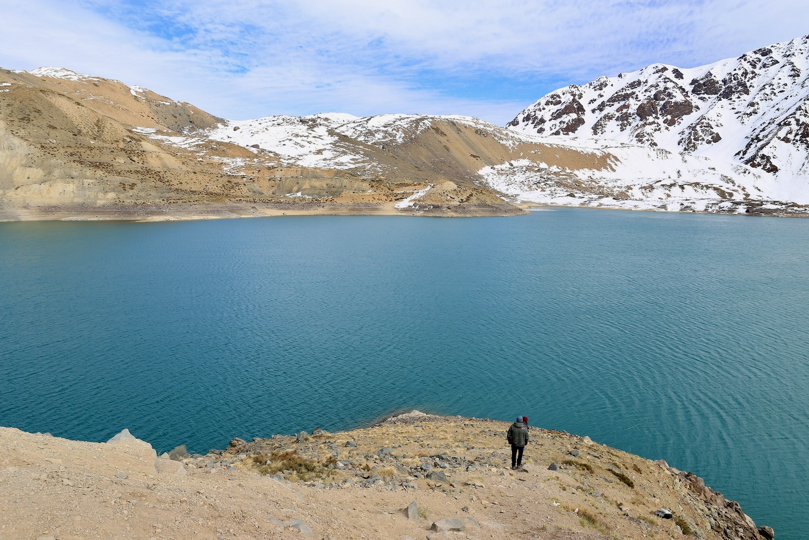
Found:
[[[536,203],[809,213],[805,178],[510,127],[414,114],[229,121],[62,68],[0,70],[0,220],[515,215]]]

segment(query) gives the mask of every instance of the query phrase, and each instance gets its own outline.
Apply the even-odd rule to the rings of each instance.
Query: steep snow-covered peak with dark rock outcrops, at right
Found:
[[[725,164],[727,188],[743,197],[807,204],[809,36],[708,66],[654,64],[561,88],[508,127],[698,156]]]

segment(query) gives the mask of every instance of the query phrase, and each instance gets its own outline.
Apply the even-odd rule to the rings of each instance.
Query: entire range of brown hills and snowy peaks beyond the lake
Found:
[[[781,70],[778,65],[791,62],[804,70],[806,47],[796,43],[760,49],[748,64]],[[784,51],[800,46],[804,62],[795,54],[786,60]],[[0,70],[0,220],[50,215],[54,208],[119,217],[290,210],[514,215],[523,202],[807,215],[806,174],[784,174],[806,164],[803,102],[796,105],[795,83],[784,79],[793,69],[766,71],[770,87],[782,81],[775,89],[744,79],[750,95],[760,96],[759,108],[749,107],[758,116],[746,120],[728,108],[731,101],[741,107],[737,98],[744,96],[733,75],[739,62],[694,70],[651,66],[599,79],[593,83],[599,89],[565,88],[520,117],[535,118],[541,134],[519,122],[506,129],[456,115],[320,113],[231,121],[144,87],[63,68]],[[686,79],[698,80],[688,86]],[[622,90],[629,86],[631,92]],[[618,95],[625,101],[618,103]],[[762,105],[765,96],[777,103]],[[582,103],[597,109],[599,100],[601,116],[578,113]],[[787,104],[790,110],[777,110]],[[627,111],[634,116],[609,116]],[[549,120],[541,122],[542,115]],[[726,117],[737,127],[756,120],[777,128],[766,138],[761,127],[756,133],[766,145],[751,154],[773,155],[777,171],[733,155],[732,135],[742,132],[729,130]],[[586,121],[600,121],[604,134],[595,136],[591,126],[581,137]],[[619,121],[627,122],[623,131]],[[715,131],[698,131],[707,122]],[[683,136],[675,130],[693,134],[694,147],[681,147]],[[731,150],[716,155],[719,148]]]

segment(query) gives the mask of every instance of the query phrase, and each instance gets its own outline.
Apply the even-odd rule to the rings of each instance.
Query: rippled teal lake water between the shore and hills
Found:
[[[809,220],[0,223],[0,279],[3,426],[205,452],[527,415],[809,529]]]

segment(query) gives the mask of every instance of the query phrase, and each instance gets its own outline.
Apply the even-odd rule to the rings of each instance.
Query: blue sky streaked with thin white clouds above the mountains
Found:
[[[234,120],[464,114],[809,33],[807,0],[0,0],[0,66],[118,79]]]

